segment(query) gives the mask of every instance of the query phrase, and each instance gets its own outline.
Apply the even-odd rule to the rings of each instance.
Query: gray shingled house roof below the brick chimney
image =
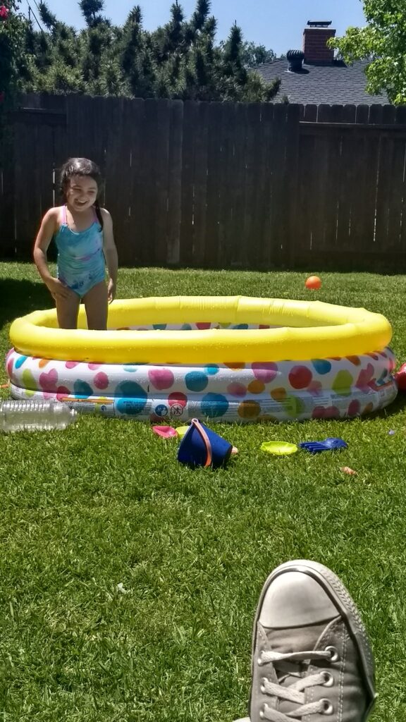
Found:
[[[288,71],[288,60],[280,58],[273,63],[256,66],[255,70],[267,82],[279,78],[280,89],[276,100],[287,95],[290,103],[327,103],[328,105],[371,105],[389,103],[386,93],[368,95],[366,92],[366,61],[345,65],[343,61],[326,64],[303,64],[299,72]]]

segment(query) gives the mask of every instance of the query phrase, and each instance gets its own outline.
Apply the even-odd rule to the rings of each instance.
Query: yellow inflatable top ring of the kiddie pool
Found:
[[[219,328],[204,330],[213,321]],[[167,330],[196,322],[202,330]],[[109,308],[111,330],[87,331],[85,323],[83,308],[72,331],[58,328],[56,310],[35,311],[12,323],[10,339],[20,353],[44,359],[194,364],[360,355],[384,349],[392,338],[389,321],[364,308],[244,296],[118,300]]]

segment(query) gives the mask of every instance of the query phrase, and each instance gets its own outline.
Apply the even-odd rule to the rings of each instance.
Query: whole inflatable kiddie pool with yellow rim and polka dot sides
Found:
[[[17,318],[14,399],[153,421],[342,418],[397,394],[392,329],[363,308],[252,297],[111,304],[108,331],[58,328],[55,310]]]

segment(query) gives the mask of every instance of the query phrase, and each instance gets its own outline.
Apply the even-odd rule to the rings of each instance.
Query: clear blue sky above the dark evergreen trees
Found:
[[[46,0],[61,20],[82,27],[82,15],[76,0]],[[38,2],[38,0],[37,0]],[[172,0],[105,0],[105,14],[120,25],[129,10],[142,7],[144,28],[155,30],[168,21]],[[35,0],[21,0],[23,12],[30,3],[38,14]],[[186,17],[196,6],[195,0],[181,0]],[[217,39],[227,37],[234,21],[246,40],[272,48],[278,55],[290,48],[301,48],[303,28],[308,20],[332,20],[337,35],[350,25],[365,25],[360,0],[212,0],[212,14],[217,18]]]

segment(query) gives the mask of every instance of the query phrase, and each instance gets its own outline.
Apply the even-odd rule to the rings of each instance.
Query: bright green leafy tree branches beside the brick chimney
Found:
[[[363,0],[366,27],[349,27],[330,45],[346,62],[367,60],[367,90],[406,103],[406,0]]]

